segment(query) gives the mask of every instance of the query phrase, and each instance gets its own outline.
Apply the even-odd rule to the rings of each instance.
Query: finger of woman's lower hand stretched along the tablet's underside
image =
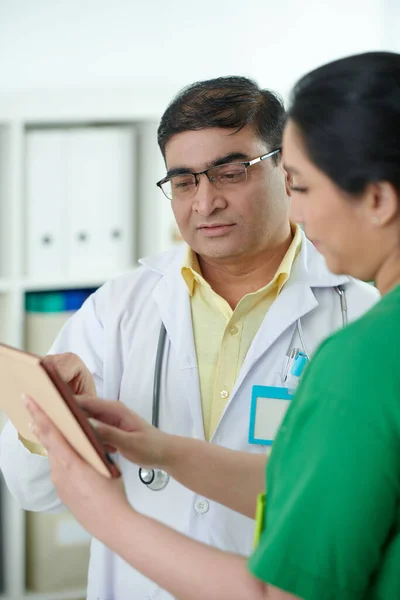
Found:
[[[53,459],[60,462],[64,469],[71,468],[74,461],[83,462],[38,404],[29,397],[25,397],[24,402],[32,417],[32,431],[47,449],[49,455],[51,454]]]

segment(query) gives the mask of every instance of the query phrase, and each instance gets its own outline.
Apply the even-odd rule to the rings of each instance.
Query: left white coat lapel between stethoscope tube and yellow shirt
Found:
[[[161,319],[179,361],[194,435],[204,439],[199,375],[188,289],[180,273],[181,261],[171,265],[154,289]]]

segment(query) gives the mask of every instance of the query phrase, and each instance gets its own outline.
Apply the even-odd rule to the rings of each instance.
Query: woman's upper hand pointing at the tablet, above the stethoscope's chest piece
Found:
[[[98,435],[111,452],[149,468],[166,468],[169,435],[139,417],[122,402],[76,396]]]

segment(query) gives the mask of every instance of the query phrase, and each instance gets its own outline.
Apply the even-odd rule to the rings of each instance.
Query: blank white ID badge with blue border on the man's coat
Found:
[[[271,446],[285,418],[294,390],[265,385],[253,386],[250,407],[249,444]]]

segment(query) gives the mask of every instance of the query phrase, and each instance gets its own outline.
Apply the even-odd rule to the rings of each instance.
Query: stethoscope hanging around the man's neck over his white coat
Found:
[[[338,285],[335,288],[335,292],[338,294],[340,299],[340,312],[342,314],[342,327],[345,327],[348,323],[347,317],[347,300],[346,300],[346,291],[343,286]],[[297,319],[296,329],[299,335],[300,343],[303,347],[304,354],[307,359],[310,360],[310,353],[307,350],[307,346],[304,341],[304,333],[301,325],[301,319]],[[161,389],[161,372],[162,372],[162,360],[164,355],[165,348],[165,339],[166,339],[167,331],[165,329],[164,323],[161,323],[160,334],[158,338],[157,345],[157,354],[156,354],[156,362],[154,367],[154,383],[153,383],[153,410],[151,416],[151,423],[154,427],[158,428],[159,417],[160,417],[160,389]],[[295,334],[294,334],[295,335]],[[291,340],[291,344],[292,345]],[[290,354],[290,351],[288,355]],[[160,492],[163,490],[169,482],[169,475],[166,471],[162,469],[144,469],[142,467],[139,468],[139,479],[140,481],[147,486],[150,490],[154,492]]]

